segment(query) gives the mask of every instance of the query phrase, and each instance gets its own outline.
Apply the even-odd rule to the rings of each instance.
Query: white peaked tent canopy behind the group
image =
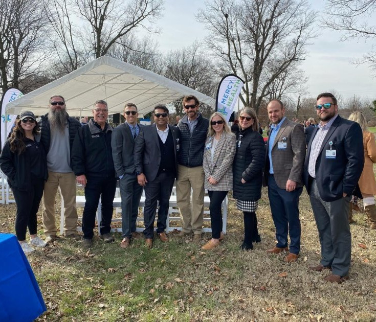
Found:
[[[134,103],[140,113],[150,112],[157,104],[168,104],[185,95],[194,95],[215,107],[213,98],[176,83],[166,77],[123,61],[102,56],[31,93],[8,103],[7,114],[31,110],[36,115],[48,111],[53,95],[65,99],[70,116],[91,116],[93,103],[105,100],[109,114],[122,112],[125,103]]]

